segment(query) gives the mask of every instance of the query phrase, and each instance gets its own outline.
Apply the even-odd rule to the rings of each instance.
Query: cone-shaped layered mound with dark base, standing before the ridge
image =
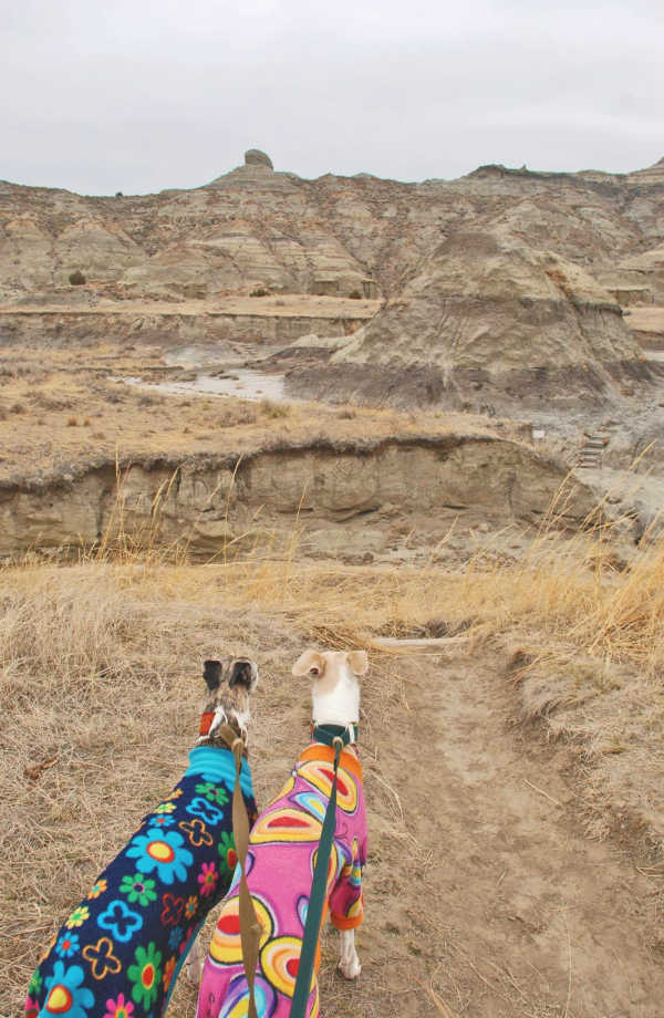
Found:
[[[560,404],[580,393],[599,402],[615,381],[647,374],[639,354],[611,293],[502,225],[442,243],[331,356],[320,384],[353,364],[361,387],[406,405]],[[419,372],[408,377],[413,366]],[[314,372],[304,380],[317,384]]]

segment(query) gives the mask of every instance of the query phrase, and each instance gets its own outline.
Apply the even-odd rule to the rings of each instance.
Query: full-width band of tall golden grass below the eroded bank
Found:
[[[137,532],[125,526],[118,467],[115,509],[100,543],[81,551],[77,568],[41,568],[32,559],[3,570],[8,589],[39,602],[30,607],[12,604],[3,630],[11,627],[17,613],[20,630],[21,612],[32,617],[54,612],[59,623],[71,616],[82,647],[90,643],[102,658],[106,653],[100,638],[102,620],[107,620],[116,598],[120,605],[127,604],[129,593],[132,614],[126,623],[120,615],[115,619],[118,631],[123,625],[136,630],[135,613],[143,602],[154,611],[157,603],[167,606],[174,599],[186,598],[209,611],[259,612],[283,620],[302,635],[322,635],[343,644],[405,633],[469,630],[496,636],[521,632],[538,634],[550,645],[551,654],[564,648],[572,656],[632,662],[649,674],[662,667],[664,537],[653,540],[646,534],[640,548],[629,547],[630,521],[609,519],[604,503],[570,532],[566,522],[569,488],[564,485],[519,560],[490,557],[485,549],[454,570],[438,564],[438,546],[422,567],[312,561],[299,553],[302,534],[295,519],[286,537],[261,533],[248,550],[237,538],[229,538],[205,564],[194,565],[188,563],[186,534],[168,544],[160,538],[162,511],[175,477],[162,486],[151,520]],[[500,534],[497,544],[499,539]],[[619,544],[621,554],[616,553]],[[81,599],[80,591],[86,588],[92,588],[90,596]],[[54,590],[56,603],[49,600]],[[76,619],[83,610],[85,619]],[[41,632],[50,629],[46,623]],[[107,636],[115,646],[115,632]],[[41,642],[43,637],[38,637],[35,646]],[[64,648],[58,638],[50,645],[52,662],[62,671]],[[0,642],[0,653],[1,647]]]

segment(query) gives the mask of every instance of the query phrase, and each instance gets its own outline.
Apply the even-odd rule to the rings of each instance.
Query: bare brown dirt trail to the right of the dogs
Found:
[[[363,974],[333,974],[330,934],[328,1018],[661,1018],[661,879],[584,835],[566,750],[513,724],[497,669],[429,656],[398,674],[407,707],[373,704],[365,728]]]

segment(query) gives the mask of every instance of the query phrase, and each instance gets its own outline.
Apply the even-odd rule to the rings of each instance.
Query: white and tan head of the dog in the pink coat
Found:
[[[359,721],[361,675],[369,671],[366,651],[304,651],[293,675],[313,679],[313,720],[319,725]]]

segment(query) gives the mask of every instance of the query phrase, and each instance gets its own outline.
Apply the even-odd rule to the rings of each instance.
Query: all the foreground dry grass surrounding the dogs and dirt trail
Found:
[[[125,547],[74,567],[3,569],[0,1014],[15,1011],[40,944],[179,777],[210,653],[261,663],[269,708],[257,706],[255,739],[264,800],[267,760],[288,766],[304,733],[304,724],[293,730],[282,679],[303,643],[371,646],[378,633],[434,629],[467,630],[470,657],[508,643],[527,710],[581,749],[594,832],[611,829],[610,814],[637,817],[660,843],[664,543],[619,570],[609,537],[598,526],[562,544],[544,527],[523,561],[473,560],[459,572],[433,557],[417,570],[299,562],[294,536],[270,557],[199,567]],[[375,725],[402,696],[388,661],[374,648],[364,702]],[[159,747],[149,766],[146,737]],[[398,823],[394,792],[385,801],[385,822]],[[422,1007],[446,1012],[433,984],[423,986]],[[339,999],[351,1006],[345,990]],[[178,987],[174,1018],[191,1001]]]

